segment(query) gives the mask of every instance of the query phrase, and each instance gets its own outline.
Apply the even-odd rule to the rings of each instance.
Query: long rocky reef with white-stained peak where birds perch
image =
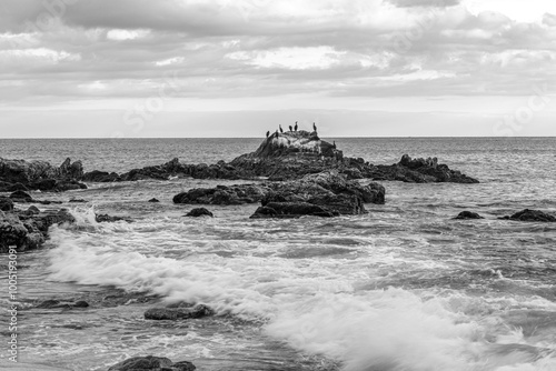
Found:
[[[186,164],[175,158],[160,166],[133,169],[121,174],[95,170],[78,179],[86,182],[119,182],[190,177],[230,180],[268,178],[282,181],[327,170],[336,170],[347,179],[478,183],[478,180],[438,163],[436,158],[411,159],[405,154],[398,163],[391,166],[375,166],[361,158],[348,158],[337,149],[336,143],[321,140],[316,131],[305,130],[275,132],[256,151],[241,154],[230,162]]]

